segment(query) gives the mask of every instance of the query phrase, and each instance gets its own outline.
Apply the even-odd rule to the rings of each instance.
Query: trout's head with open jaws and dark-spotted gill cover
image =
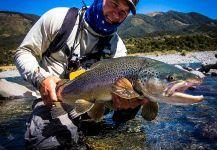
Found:
[[[135,90],[151,101],[173,105],[199,103],[203,96],[193,96],[185,91],[202,83],[199,76],[160,61],[151,60],[141,68]]]

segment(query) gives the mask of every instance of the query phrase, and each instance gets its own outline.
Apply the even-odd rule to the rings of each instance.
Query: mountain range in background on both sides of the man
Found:
[[[0,50],[14,50],[39,16],[0,11]],[[122,38],[146,37],[164,34],[217,32],[217,20],[199,13],[176,11],[153,12],[129,16],[118,32]]]

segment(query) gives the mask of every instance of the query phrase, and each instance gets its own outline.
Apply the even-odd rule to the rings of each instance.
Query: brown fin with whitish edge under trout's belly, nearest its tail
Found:
[[[74,118],[88,112],[93,106],[94,106],[94,103],[91,103],[91,102],[86,101],[84,99],[78,99],[75,101],[74,110],[72,110],[69,113],[69,115],[74,119]]]

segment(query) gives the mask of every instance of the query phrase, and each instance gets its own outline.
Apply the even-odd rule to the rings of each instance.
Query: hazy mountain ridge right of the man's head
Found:
[[[217,20],[199,13],[176,11],[129,16],[119,27],[121,37],[146,37],[164,34],[217,33]]]

